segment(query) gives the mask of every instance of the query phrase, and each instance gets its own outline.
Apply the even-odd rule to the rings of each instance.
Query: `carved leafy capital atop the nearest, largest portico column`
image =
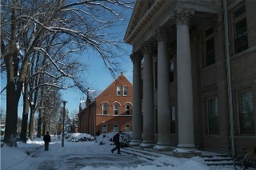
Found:
[[[194,15],[194,10],[178,9],[171,19],[176,22],[177,25],[189,25],[190,18]]]

